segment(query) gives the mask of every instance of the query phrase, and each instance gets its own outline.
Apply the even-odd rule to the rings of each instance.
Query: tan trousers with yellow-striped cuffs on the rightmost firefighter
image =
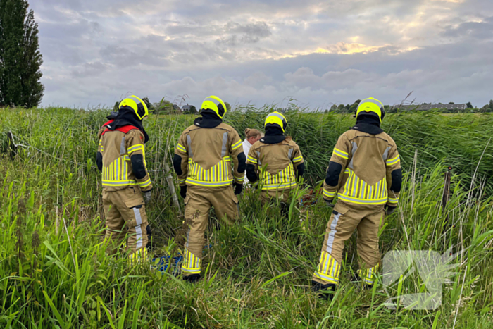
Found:
[[[368,285],[373,285],[380,263],[378,232],[384,223],[384,206],[358,206],[337,201],[332,211],[319,263],[312,280],[326,285],[338,284],[344,242],[358,230],[358,275]]]

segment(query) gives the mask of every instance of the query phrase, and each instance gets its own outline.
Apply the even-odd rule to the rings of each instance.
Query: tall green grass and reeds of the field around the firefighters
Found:
[[[227,123],[261,128],[269,108],[227,113]],[[349,281],[357,268],[356,236],[345,249],[342,283],[333,302],[311,292],[330,216],[323,202],[296,197],[320,184],[337,137],[352,116],[287,113],[288,131],[306,159],[306,185],[289,218],[242,195],[242,219],[226,227],[212,217],[206,232],[205,279],[195,285],[149,265],[129,267],[105,254],[96,132],[106,111],[0,109],[0,328],[492,328],[493,116],[393,114],[382,125],[396,140],[405,182],[399,211],[380,236],[382,252],[466,249],[443,303],[432,311],[388,309],[381,284]],[[149,207],[153,252],[180,251],[181,211],[166,182],[180,132],[194,116],[151,116],[147,163],[155,182]],[[8,131],[20,144],[7,154]],[[441,207],[444,173],[453,166],[451,198]],[[173,180],[177,184],[175,175]],[[182,203],[182,200],[180,199]],[[181,204],[182,206],[182,204]],[[446,214],[455,228],[444,227]],[[382,278],[380,277],[380,280]],[[399,294],[423,292],[406,280]],[[397,294],[392,297],[397,296]]]

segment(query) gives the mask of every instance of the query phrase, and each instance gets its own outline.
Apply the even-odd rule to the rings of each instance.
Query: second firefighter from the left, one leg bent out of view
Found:
[[[189,282],[200,278],[211,206],[228,224],[239,216],[237,195],[243,188],[246,156],[238,132],[223,123],[225,114],[226,106],[219,97],[207,97],[201,118],[182,132],[173,156],[180,195],[185,199],[188,230],[182,274]]]

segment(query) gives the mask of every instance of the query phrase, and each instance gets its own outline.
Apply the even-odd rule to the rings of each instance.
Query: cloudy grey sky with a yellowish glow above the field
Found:
[[[492,0],[31,0],[42,105],[493,99]],[[180,101],[178,101],[180,102]]]

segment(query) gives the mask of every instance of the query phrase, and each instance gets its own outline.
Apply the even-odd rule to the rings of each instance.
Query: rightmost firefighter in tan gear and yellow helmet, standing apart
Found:
[[[323,199],[333,207],[320,261],[312,277],[319,297],[332,299],[339,283],[344,242],[358,230],[359,270],[356,279],[372,287],[380,263],[378,231],[399,201],[402,173],[394,140],[380,123],[385,110],[372,97],[356,108],[356,125],[335,145],[323,186]],[[332,204],[338,195],[337,203]]]

